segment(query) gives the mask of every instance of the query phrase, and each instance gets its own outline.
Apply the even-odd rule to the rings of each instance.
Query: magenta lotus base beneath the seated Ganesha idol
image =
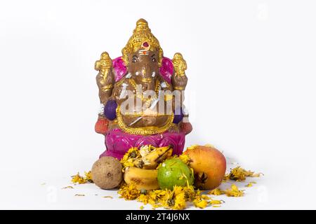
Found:
[[[129,151],[129,148],[152,145],[154,147],[163,147],[171,145],[173,154],[180,155],[185,145],[185,132],[164,132],[153,135],[127,134],[119,129],[111,130],[105,137],[105,146],[107,150],[100,155],[112,156],[121,160],[123,155]]]

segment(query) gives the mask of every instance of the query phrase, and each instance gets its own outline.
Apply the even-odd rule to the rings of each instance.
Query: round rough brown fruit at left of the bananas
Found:
[[[123,180],[121,169],[121,163],[117,159],[111,156],[104,156],[92,166],[91,176],[93,183],[96,183],[96,186],[102,189],[116,188]]]

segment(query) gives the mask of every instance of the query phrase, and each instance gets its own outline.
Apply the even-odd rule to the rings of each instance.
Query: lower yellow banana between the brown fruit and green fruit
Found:
[[[157,190],[157,169],[140,169],[138,167],[126,167],[124,181],[133,184],[138,190]]]

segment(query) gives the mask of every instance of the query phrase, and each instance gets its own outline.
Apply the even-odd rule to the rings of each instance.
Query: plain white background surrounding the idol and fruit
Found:
[[[186,146],[213,144],[265,174],[244,197],[225,197],[220,209],[316,209],[315,7],[277,0],[1,1],[0,209],[140,207],[94,185],[60,190],[105,150],[94,132],[94,62],[105,50],[120,56],[139,18],[166,57],[181,52],[187,61],[194,130]]]

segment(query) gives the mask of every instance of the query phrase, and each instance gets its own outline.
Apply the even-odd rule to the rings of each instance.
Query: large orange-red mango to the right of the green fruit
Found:
[[[195,146],[183,154],[190,158],[197,188],[211,190],[220,186],[226,171],[226,160],[220,151],[213,146]]]

